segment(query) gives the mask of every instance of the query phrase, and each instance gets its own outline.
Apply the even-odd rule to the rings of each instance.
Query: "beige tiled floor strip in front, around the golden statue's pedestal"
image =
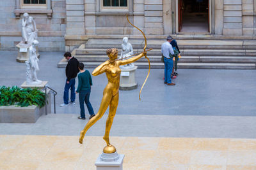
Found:
[[[0,169],[95,169],[101,137],[0,136]],[[112,137],[125,169],[255,170],[256,139]]]

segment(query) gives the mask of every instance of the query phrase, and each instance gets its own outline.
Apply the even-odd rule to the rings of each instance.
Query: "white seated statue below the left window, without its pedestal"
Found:
[[[33,40],[37,39],[36,22],[28,13],[23,14],[22,18],[22,43],[31,44]]]

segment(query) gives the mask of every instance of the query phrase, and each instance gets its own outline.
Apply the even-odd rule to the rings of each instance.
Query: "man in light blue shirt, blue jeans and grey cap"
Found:
[[[167,85],[175,85],[172,83],[172,68],[173,68],[173,60],[170,57],[170,54],[174,55],[172,45],[170,44],[172,41],[171,36],[167,36],[166,42],[161,46],[161,52],[164,57],[164,83]]]

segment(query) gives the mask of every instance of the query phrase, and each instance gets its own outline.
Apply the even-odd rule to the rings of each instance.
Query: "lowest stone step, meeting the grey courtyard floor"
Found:
[[[95,68],[99,66],[102,62],[84,62],[87,68]],[[148,68],[147,62],[135,62],[138,68]],[[152,69],[163,69],[163,62],[151,62]],[[66,67],[67,62],[61,61],[58,67]],[[192,62],[192,63],[182,63],[178,64],[179,69],[256,69],[255,63],[204,63],[204,62]]]

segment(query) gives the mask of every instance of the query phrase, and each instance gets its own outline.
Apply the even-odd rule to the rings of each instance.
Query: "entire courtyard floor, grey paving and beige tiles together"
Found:
[[[62,55],[41,53],[38,73],[57,90],[58,105],[65,82],[65,69],[57,68]],[[17,52],[1,51],[1,56],[0,86],[21,85],[26,66],[15,61]],[[125,154],[124,170],[256,170],[256,71],[179,73],[177,85],[168,87],[163,69],[152,69],[139,101],[147,69],[138,69],[139,88],[120,91],[110,136],[118,153]],[[93,76],[95,112],[105,85],[104,74]],[[88,118],[78,120],[78,115],[79,104],[57,106],[57,114],[43,115],[35,124],[0,124],[0,169],[95,169],[108,111],[88,131],[84,145],[78,138]]]

